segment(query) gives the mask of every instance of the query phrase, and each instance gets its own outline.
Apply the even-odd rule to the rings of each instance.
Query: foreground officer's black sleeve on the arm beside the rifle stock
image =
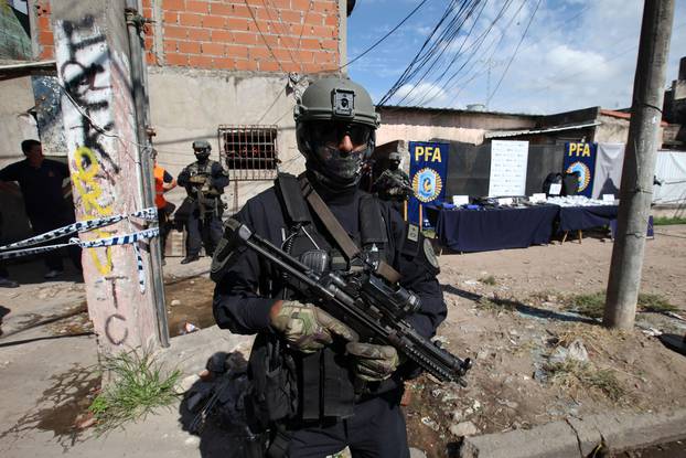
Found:
[[[250,203],[235,216],[255,228]],[[217,326],[237,334],[254,334],[269,326],[269,311],[275,299],[260,296],[262,263],[246,248],[237,248],[214,289],[213,312]]]

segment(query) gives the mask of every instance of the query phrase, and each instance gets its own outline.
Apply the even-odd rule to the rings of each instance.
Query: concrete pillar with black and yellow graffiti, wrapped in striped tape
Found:
[[[77,219],[140,210],[143,199],[125,1],[52,1],[52,24]],[[82,234],[82,238],[141,228],[140,223],[125,220]],[[101,352],[159,343],[149,249],[144,242],[139,247],[144,291],[132,245],[84,251],[88,312]]]

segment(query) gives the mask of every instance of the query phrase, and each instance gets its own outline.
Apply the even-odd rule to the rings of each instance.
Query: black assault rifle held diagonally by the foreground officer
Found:
[[[471,360],[461,360],[441,349],[405,320],[421,303],[415,294],[397,285],[398,275],[387,264],[364,259],[362,273],[344,279],[333,273],[315,271],[239,221],[229,219],[225,227],[229,246],[242,244],[264,257],[288,275],[291,286],[350,326],[361,340],[393,345],[439,381],[467,386],[463,376],[472,366]]]

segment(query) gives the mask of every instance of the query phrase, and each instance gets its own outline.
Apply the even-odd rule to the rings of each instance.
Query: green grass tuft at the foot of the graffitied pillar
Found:
[[[97,420],[98,434],[136,422],[179,396],[175,385],[181,371],[162,370],[149,351],[106,356],[103,371],[109,372],[112,380],[88,407]]]

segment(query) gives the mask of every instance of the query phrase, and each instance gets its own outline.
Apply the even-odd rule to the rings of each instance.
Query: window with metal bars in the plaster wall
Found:
[[[277,126],[217,129],[221,157],[232,181],[274,180],[278,172]]]

